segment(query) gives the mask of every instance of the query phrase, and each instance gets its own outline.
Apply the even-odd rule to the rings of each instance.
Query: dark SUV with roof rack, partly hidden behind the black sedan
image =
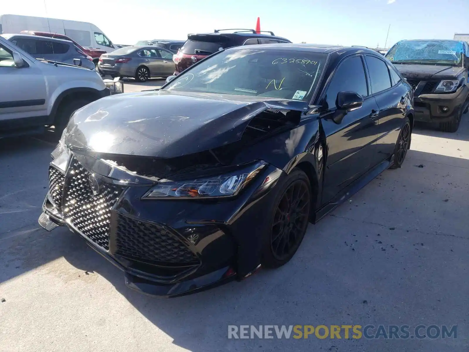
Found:
[[[234,32],[226,33],[224,31]],[[278,37],[271,31],[258,33],[253,29],[224,29],[215,30],[213,33],[189,34],[187,41],[173,56],[173,61],[176,64],[174,75],[180,74],[197,61],[232,46],[277,43],[291,43],[291,41]]]

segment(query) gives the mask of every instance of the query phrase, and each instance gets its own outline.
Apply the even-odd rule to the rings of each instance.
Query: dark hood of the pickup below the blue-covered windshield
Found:
[[[405,65],[395,64],[394,67],[401,72],[404,78],[409,79],[451,79],[457,78],[462,67],[442,65]]]

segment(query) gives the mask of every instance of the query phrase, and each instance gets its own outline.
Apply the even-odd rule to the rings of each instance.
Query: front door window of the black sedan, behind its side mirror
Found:
[[[336,107],[339,92],[356,92],[363,98],[368,96],[365,69],[360,56],[354,56],[343,61],[335,71],[332,81],[327,87],[323,103],[326,109]]]

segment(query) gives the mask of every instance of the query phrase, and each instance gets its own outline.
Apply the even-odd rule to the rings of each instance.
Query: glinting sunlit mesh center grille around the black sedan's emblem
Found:
[[[95,194],[89,176],[90,173],[72,159],[65,179],[63,214],[84,236],[107,251],[111,208],[121,195],[122,187],[101,183]]]

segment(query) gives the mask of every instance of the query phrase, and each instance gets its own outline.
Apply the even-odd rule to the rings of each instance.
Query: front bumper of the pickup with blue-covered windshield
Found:
[[[461,113],[467,102],[469,89],[466,85],[454,93],[421,94],[414,97],[415,120],[421,122],[448,122]],[[447,107],[447,111],[442,108]]]

